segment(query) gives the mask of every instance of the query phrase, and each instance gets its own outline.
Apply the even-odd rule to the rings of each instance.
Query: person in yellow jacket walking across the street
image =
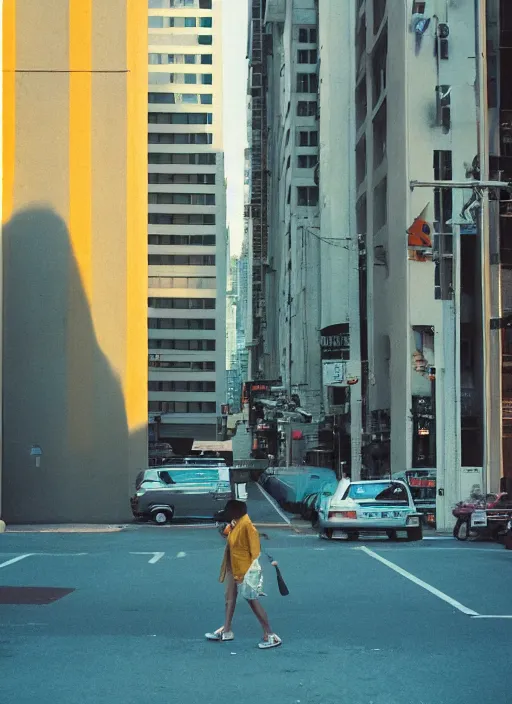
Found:
[[[207,633],[206,638],[212,641],[234,639],[231,624],[237,596],[240,595],[247,600],[263,628],[263,639],[258,647],[261,650],[276,648],[282,641],[272,631],[267,613],[259,601],[260,597],[265,596],[259,562],[261,546],[258,531],[247,515],[247,505],[243,501],[230,500],[220,517],[228,523],[224,530],[227,545],[219,578],[226,584],[226,614],[224,625],[213,633]]]

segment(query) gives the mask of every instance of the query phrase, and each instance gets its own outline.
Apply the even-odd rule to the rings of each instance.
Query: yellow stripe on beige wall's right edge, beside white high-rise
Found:
[[[127,0],[128,430],[147,426],[147,2]]]

